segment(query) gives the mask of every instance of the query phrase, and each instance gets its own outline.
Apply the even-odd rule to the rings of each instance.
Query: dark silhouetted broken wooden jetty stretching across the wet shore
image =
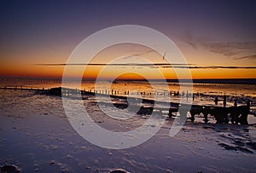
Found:
[[[79,90],[79,89],[67,89],[67,88],[52,88],[52,89],[33,89],[33,88],[22,88],[22,87],[2,87],[0,89],[22,89],[22,90],[36,90],[38,94],[43,95],[57,95],[57,96],[73,96],[75,94],[81,94],[82,96],[95,96],[95,95],[102,95],[102,96],[110,96],[113,101],[115,99],[121,99],[123,102],[114,102],[113,105],[115,107],[124,109],[128,107],[128,101],[127,96],[124,95],[116,95],[118,94],[117,91],[100,91],[97,92],[96,90]],[[86,99],[84,97],[83,99]],[[136,97],[129,97],[129,100],[132,101],[134,99],[137,100]],[[154,109],[158,110],[159,112],[168,112],[168,116],[172,118],[173,113],[182,112],[183,107],[189,107],[189,105],[180,103],[174,103],[174,102],[167,102],[167,101],[154,101],[150,99],[142,99],[142,103],[152,105],[149,106],[140,106],[137,114],[151,114]],[[154,103],[166,105],[166,107],[154,107]],[[109,104],[109,103],[108,103]],[[250,112],[250,105],[249,103],[247,106],[239,106],[239,107],[217,107],[217,106],[200,106],[200,105],[192,105],[190,108],[190,120],[191,122],[195,121],[195,115],[204,115],[204,121],[205,123],[208,122],[208,115],[210,114],[216,119],[217,124],[248,124],[247,122],[247,116],[248,114],[253,114],[255,116],[255,113]]]

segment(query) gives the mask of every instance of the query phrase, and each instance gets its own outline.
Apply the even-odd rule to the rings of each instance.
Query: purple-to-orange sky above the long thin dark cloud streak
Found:
[[[90,34],[131,24],[170,37],[189,63],[256,65],[256,1],[1,1],[0,9],[2,64],[65,63]]]

